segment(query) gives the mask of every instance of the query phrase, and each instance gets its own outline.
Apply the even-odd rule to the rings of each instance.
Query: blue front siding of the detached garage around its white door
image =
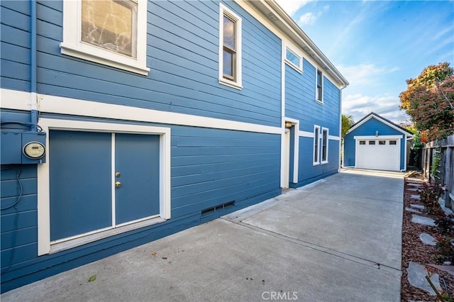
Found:
[[[358,122],[359,123],[359,122]],[[404,130],[397,130],[391,126],[383,123],[382,121],[377,120],[377,118],[370,118],[368,121],[365,121],[358,128],[351,130],[347,135],[345,135],[344,140],[344,156],[343,156],[343,165],[345,167],[355,167],[355,136],[364,136],[370,135],[374,136],[375,132],[378,131],[380,135],[399,135],[402,138],[400,139],[400,169],[405,169],[405,135],[403,134]],[[380,136],[377,137],[377,140],[380,140]]]

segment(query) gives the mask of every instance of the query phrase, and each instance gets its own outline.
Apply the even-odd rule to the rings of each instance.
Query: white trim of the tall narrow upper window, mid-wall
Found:
[[[224,79],[223,77],[223,23],[224,23],[224,13],[233,18],[236,22],[236,81],[231,81],[229,79]],[[219,84],[230,86],[236,89],[243,89],[243,77],[241,70],[241,18],[228,9],[225,5],[219,4]]]

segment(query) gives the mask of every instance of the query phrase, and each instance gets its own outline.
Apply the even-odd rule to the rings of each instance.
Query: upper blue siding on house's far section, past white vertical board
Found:
[[[285,65],[285,116],[300,121],[299,129],[313,132],[314,125],[339,135],[341,92],[323,77],[323,105],[315,101],[316,68],[303,59],[303,74]]]

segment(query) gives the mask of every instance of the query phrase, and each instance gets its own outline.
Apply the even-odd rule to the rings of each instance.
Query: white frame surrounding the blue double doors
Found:
[[[75,130],[107,133],[142,133],[160,135],[160,213],[122,225],[95,230],[83,235],[50,242],[50,152],[46,152],[45,164],[38,165],[38,256],[60,252],[72,247],[94,242],[130,230],[143,228],[148,225],[161,223],[170,219],[170,128],[147,125],[126,125],[113,123],[97,123],[87,121],[70,121],[64,119],[41,118],[40,127],[49,130]],[[46,135],[46,145],[49,145],[49,135]],[[112,184],[113,186],[113,184]]]

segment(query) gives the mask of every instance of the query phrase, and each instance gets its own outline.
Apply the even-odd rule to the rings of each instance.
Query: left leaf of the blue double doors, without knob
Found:
[[[49,133],[50,240],[112,225],[111,134]]]

